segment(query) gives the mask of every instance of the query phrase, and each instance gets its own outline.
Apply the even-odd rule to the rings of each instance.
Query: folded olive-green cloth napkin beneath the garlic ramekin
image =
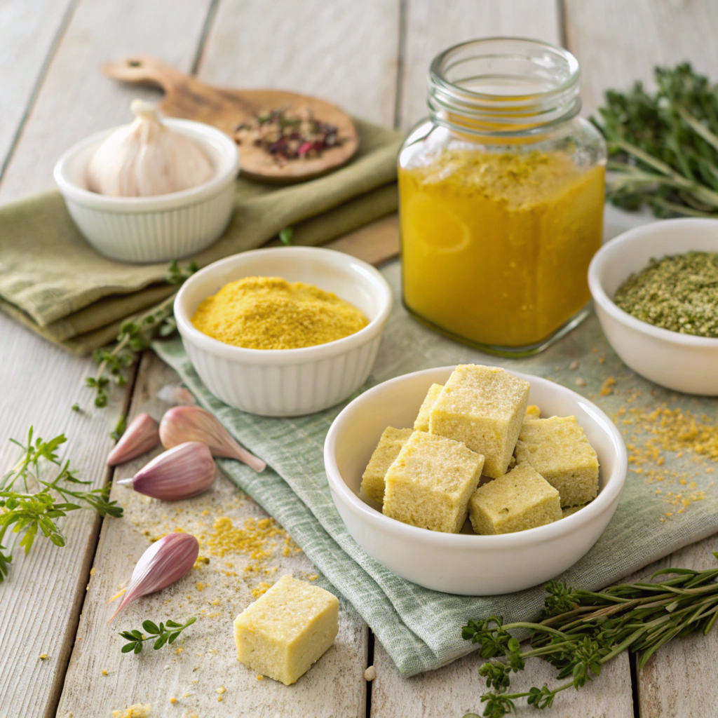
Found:
[[[299,185],[237,181],[236,213],[200,266],[263,245],[284,227],[294,243],[317,245],[396,211],[401,135],[355,120],[359,150],[350,164]],[[76,353],[106,344],[123,319],[154,307],[176,287],[167,262],[122,264],[84,240],[59,192],[0,208],[0,310]]]

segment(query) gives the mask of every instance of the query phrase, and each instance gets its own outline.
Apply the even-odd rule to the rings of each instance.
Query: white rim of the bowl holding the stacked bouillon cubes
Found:
[[[605,487],[601,490],[597,497],[592,500],[591,503],[584,506],[581,510],[573,513],[571,516],[561,518],[560,521],[554,521],[553,523],[546,523],[544,526],[537,526],[536,528],[528,528],[526,531],[516,531],[514,533],[500,533],[490,536],[477,536],[466,533],[443,533],[442,531],[431,531],[428,528],[419,528],[417,526],[411,526],[407,523],[402,523],[396,519],[384,516],[383,513],[379,513],[377,510],[371,508],[356,495],[343,480],[342,475],[337,466],[335,445],[337,436],[339,434],[339,426],[346,421],[347,415],[350,411],[362,404],[377,393],[381,393],[387,386],[392,384],[406,381],[406,378],[416,377],[422,374],[432,375],[437,370],[454,370],[456,365],[434,367],[431,369],[423,369],[420,371],[411,372],[409,374],[402,374],[388,381],[383,381],[381,384],[368,389],[364,393],[360,394],[357,398],[350,402],[344,409],[338,414],[332,426],[330,426],[327,438],[324,444],[324,460],[325,469],[327,473],[327,481],[329,482],[330,490],[332,491],[332,498],[335,494],[341,497],[341,500],[348,505],[353,513],[358,514],[361,520],[368,523],[372,528],[379,529],[381,531],[389,531],[393,533],[403,533],[405,539],[411,539],[421,544],[432,544],[434,547],[444,547],[447,549],[510,549],[518,546],[525,546],[526,544],[536,544],[537,542],[550,541],[554,538],[565,536],[573,531],[577,530],[583,523],[588,523],[594,518],[597,518],[610,508],[613,501],[618,498],[623,485],[625,483],[626,474],[628,472],[628,454],[626,447],[623,442],[623,438],[620,432],[616,428],[615,424],[609,419],[604,411],[599,409],[592,401],[581,396],[579,393],[572,391],[571,389],[550,382],[548,379],[544,379],[540,376],[534,376],[533,374],[525,374],[518,371],[510,370],[515,376],[528,381],[531,383],[537,382],[541,384],[550,385],[551,390],[555,390],[558,393],[569,396],[574,401],[579,401],[583,404],[583,408],[589,411],[589,414],[593,414],[595,419],[599,421],[606,429],[614,444],[614,449],[617,454],[617,463],[615,470],[610,476],[605,479]],[[503,368],[503,367],[501,367]],[[507,369],[507,371],[509,371]],[[427,385],[428,386],[428,385]]]

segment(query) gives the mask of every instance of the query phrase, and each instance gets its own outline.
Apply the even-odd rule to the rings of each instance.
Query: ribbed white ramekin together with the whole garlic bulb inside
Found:
[[[210,246],[235,205],[239,153],[215,127],[163,118],[135,101],[136,119],[79,142],[55,182],[85,239],[116,261],[172,261]]]

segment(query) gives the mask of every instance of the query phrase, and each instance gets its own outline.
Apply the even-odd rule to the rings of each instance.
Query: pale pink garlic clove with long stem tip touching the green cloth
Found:
[[[266,463],[243,449],[229,434],[219,419],[199,406],[174,406],[159,422],[162,446],[171,449],[184,442],[202,442],[210,447],[213,456],[236,459],[264,471]]]

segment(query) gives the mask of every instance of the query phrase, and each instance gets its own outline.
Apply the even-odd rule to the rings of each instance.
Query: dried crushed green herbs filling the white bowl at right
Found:
[[[652,259],[613,298],[617,307],[656,327],[718,337],[718,253],[689,252]]]

